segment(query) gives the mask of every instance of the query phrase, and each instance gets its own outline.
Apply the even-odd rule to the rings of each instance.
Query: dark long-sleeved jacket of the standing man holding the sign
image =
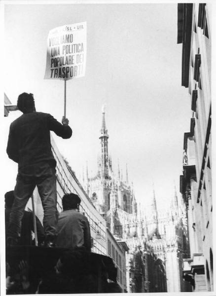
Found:
[[[72,136],[70,126],[62,125],[48,113],[31,112],[21,115],[10,125],[6,150],[8,157],[17,162],[19,168],[41,161],[49,161],[56,166],[50,131],[63,139]]]

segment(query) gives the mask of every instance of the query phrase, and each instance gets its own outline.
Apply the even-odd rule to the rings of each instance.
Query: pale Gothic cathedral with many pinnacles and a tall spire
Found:
[[[119,165],[112,170],[108,154],[108,130],[102,111],[101,155],[98,172],[84,180],[87,195],[105,218],[115,238],[127,243],[127,292],[190,292],[182,280],[182,259],[187,258],[188,242],[185,209],[177,193],[167,211],[157,209],[153,190],[152,204],[137,205],[133,183],[123,180]]]

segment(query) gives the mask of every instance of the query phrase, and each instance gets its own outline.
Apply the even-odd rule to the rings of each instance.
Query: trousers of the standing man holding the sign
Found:
[[[14,188],[14,203],[10,213],[8,237],[19,236],[24,209],[37,186],[44,210],[43,227],[46,239],[51,241],[55,239],[58,220],[55,173],[55,167],[49,162],[41,162],[19,169]]]

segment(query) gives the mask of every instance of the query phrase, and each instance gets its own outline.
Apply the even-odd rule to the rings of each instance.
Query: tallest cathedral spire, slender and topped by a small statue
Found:
[[[102,176],[108,176],[108,130],[106,128],[105,121],[105,107],[102,108],[102,128],[101,128],[101,136],[99,139],[101,140],[101,170]]]

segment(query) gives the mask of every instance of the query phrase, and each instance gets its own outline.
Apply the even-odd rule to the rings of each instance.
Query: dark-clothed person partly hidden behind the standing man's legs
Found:
[[[8,191],[4,195],[5,202],[5,234],[7,233],[7,228],[9,224],[9,217],[11,208],[14,201],[14,191]],[[44,241],[44,230],[39,219],[36,217],[36,229],[37,229],[37,239],[38,244],[41,245]],[[30,246],[33,244],[32,232],[34,232],[34,221],[33,213],[24,211],[24,216],[21,221],[21,236],[19,237],[18,244],[21,246]]]

